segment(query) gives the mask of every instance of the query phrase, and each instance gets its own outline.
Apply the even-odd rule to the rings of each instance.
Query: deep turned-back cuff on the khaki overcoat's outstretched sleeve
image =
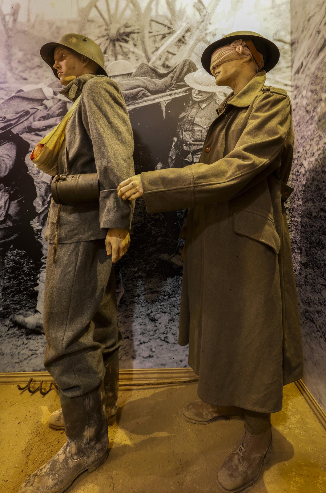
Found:
[[[147,171],[141,174],[146,210],[177,211],[195,205],[194,178],[190,166]]]

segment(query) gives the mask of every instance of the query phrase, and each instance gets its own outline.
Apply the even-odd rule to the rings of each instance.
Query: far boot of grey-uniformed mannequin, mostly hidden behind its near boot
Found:
[[[103,354],[103,362],[105,368],[104,375],[104,393],[105,393],[105,407],[109,424],[115,422],[117,414],[117,401],[119,392],[119,350],[110,353],[109,355]],[[65,423],[62,414],[62,409],[54,411],[48,420],[49,426],[57,430],[64,430]]]

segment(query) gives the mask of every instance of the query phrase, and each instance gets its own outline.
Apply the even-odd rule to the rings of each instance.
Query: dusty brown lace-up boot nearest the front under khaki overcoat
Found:
[[[260,435],[244,431],[219,470],[217,482],[222,491],[242,492],[257,481],[271,440],[270,426]]]

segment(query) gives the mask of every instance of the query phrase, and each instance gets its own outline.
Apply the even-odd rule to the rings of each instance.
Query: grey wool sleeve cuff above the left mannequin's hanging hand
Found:
[[[99,192],[99,227],[102,230],[121,228],[131,229],[134,203],[121,200],[117,189]]]

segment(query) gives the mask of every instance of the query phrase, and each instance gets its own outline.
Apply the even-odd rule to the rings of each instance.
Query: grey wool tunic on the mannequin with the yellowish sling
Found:
[[[133,135],[123,94],[105,75],[86,74],[62,89],[80,101],[66,126],[69,174],[98,173],[99,203],[62,206],[58,243],[105,238],[109,228],[131,228],[134,205],[117,196],[118,184],[134,175]],[[59,154],[59,173],[66,173],[65,145]],[[45,240],[55,241],[58,205],[51,200]]]

